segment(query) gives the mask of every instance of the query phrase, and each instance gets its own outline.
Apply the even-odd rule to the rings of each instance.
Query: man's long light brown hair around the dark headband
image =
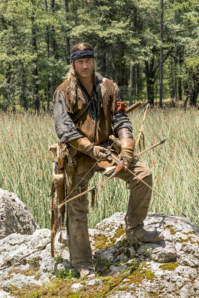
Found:
[[[75,52],[75,51],[80,51],[80,50],[93,50],[92,45],[83,42],[81,44],[75,44],[72,47],[71,53]],[[93,59],[94,62],[94,69],[93,69],[93,81],[95,84],[95,59]],[[67,74],[67,80],[68,80],[68,95],[69,98],[71,100],[72,104],[75,104],[76,100],[77,100],[77,88],[78,86],[80,86],[80,82],[78,80],[77,77],[77,72],[75,70],[75,63],[74,61],[71,63],[71,66],[69,68],[68,74]]]

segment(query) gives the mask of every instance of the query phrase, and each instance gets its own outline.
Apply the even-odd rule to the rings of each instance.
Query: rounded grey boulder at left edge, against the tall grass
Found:
[[[12,234],[32,234],[40,227],[16,194],[0,188],[0,239]]]

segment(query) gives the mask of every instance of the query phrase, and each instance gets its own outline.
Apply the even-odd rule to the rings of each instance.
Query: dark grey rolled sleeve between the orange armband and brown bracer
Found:
[[[112,119],[113,133],[117,134],[120,128],[128,128],[132,132],[131,121],[125,112],[117,112]]]

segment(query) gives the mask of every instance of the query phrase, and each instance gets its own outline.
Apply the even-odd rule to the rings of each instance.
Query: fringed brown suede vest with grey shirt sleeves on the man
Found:
[[[66,139],[66,142],[87,137],[91,143],[97,145],[106,142],[111,134],[117,134],[120,128],[128,128],[132,132],[125,107],[116,83],[101,77],[97,72],[92,95],[89,96],[86,88],[80,85],[75,104],[71,103],[65,80],[53,96],[52,108],[57,136],[60,140]],[[89,164],[92,163],[88,155],[83,158],[84,163],[85,158],[89,159]]]

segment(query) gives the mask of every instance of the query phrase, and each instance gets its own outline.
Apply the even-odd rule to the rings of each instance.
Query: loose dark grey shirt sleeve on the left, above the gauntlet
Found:
[[[53,113],[55,121],[55,130],[60,140],[66,139],[66,142],[83,137],[74,125],[71,114],[66,111],[66,102],[62,94],[61,101],[56,94],[56,100],[53,102]]]

